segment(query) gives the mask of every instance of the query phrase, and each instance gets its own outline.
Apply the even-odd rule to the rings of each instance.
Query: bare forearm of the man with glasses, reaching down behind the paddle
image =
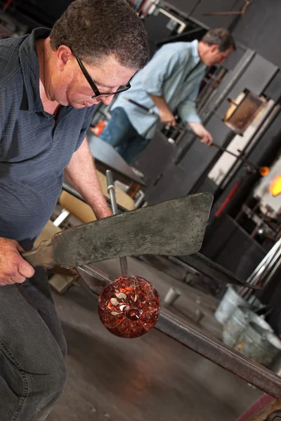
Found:
[[[72,155],[70,163],[65,168],[65,178],[89,203],[96,218],[100,219],[111,215],[98,182],[93,156],[86,139],[77,152]]]

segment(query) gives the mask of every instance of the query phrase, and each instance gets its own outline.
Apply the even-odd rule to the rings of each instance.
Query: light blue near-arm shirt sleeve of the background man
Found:
[[[163,46],[148,62],[142,72],[143,89],[150,95],[162,96],[164,81],[183,65],[186,55],[171,46]]]

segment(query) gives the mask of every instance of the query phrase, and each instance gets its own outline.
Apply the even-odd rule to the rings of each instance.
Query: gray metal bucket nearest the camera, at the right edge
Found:
[[[280,352],[281,341],[273,332],[265,330],[259,324],[251,321],[244,330],[235,349],[249,356],[257,363],[268,366]]]

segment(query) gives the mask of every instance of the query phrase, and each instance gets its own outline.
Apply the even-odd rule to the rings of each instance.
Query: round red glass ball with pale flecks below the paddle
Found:
[[[140,276],[119,276],[98,298],[103,326],[121,338],[138,338],[155,326],[160,299],[152,284]]]

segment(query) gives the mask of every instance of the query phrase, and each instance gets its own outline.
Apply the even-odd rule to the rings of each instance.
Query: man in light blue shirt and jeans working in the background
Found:
[[[159,119],[168,126],[176,125],[177,110],[201,142],[211,145],[211,134],[202,125],[195,101],[207,67],[223,64],[234,50],[233,37],[223,28],[211,29],[201,41],[162,46],[133,77],[130,91],[119,95],[100,138],[113,147],[119,146],[120,154],[132,164],[150,142]],[[159,117],[124,97],[152,109]]]

